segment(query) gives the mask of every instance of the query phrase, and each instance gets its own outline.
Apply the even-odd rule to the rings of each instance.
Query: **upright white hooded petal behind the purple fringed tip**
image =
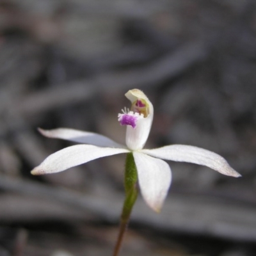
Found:
[[[140,109],[140,107],[135,106],[136,100],[144,100],[146,103],[145,110],[143,109],[144,117],[138,120],[135,128],[133,128],[131,125],[127,125],[126,130],[127,147],[131,150],[140,150],[144,147],[148,139],[154,117],[154,107],[148,97],[141,92],[141,90],[129,90],[127,93],[125,93],[125,97],[131,101],[131,110],[134,112],[137,112],[137,110]]]

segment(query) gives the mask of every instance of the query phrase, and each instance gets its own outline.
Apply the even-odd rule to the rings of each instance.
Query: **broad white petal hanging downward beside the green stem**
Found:
[[[159,212],[172,180],[170,166],[161,159],[140,152],[133,152],[133,156],[141,194],[147,204],[154,211]]]

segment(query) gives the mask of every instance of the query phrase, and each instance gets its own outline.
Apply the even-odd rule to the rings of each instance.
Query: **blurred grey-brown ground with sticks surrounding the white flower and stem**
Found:
[[[243,177],[169,162],[160,214],[138,198],[121,255],[256,255],[254,0],[0,1],[0,256],[111,255],[125,156],[33,177],[72,145],[37,127],[99,132],[140,88],[155,108],[147,147],[188,144]]]

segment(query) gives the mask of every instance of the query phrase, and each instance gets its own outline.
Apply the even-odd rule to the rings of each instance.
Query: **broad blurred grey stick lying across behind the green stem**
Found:
[[[63,216],[63,212],[55,212],[56,217],[67,218],[72,220],[72,216],[84,220],[84,211],[92,212],[93,216],[101,218],[102,220],[115,223],[118,219],[118,210],[120,209],[119,193],[113,193],[111,199],[100,199],[98,195],[84,195],[82,193],[75,193],[68,189],[53,188],[38,182],[31,182],[29,180],[12,179],[6,175],[0,175],[0,189],[7,193],[17,193],[19,196],[26,196],[25,202],[38,200],[42,198],[45,203],[60,207],[68,207],[69,209],[77,210],[76,215]],[[244,188],[232,191],[232,195],[227,195],[226,192],[212,191],[211,195],[204,193],[191,193],[186,191],[183,195],[177,193],[170,193],[164,203],[161,216],[153,211],[148,211],[148,206],[141,198],[138,198],[138,205],[132,212],[132,220],[140,225],[146,225],[150,228],[155,228],[157,232],[170,231],[182,232],[185,234],[198,234],[200,236],[220,237],[232,241],[242,242],[256,242],[256,200],[252,193]],[[11,194],[11,195],[12,195]],[[28,197],[29,196],[29,197]],[[2,220],[8,222],[20,221],[20,218],[26,218],[26,221],[33,221],[31,212],[38,212],[39,206],[33,204],[31,212],[28,215],[22,214],[20,217],[19,211],[13,211],[10,200],[3,202],[1,200],[0,217]],[[20,199],[22,200],[22,198]],[[25,200],[25,199],[24,199]],[[40,202],[38,200],[38,202]],[[23,206],[21,205],[20,208]],[[2,211],[4,209],[4,211]],[[52,207],[51,207],[52,209]],[[63,211],[63,210],[62,210]],[[79,214],[79,211],[82,214]],[[44,216],[40,216],[44,213]],[[31,216],[31,217],[30,217]],[[36,220],[45,219],[45,217],[52,219],[52,211],[47,211],[45,207],[44,212],[36,214]],[[81,216],[81,217],[79,217]],[[189,218],[188,218],[189,216]],[[35,216],[34,216],[35,217]],[[74,220],[74,219],[73,219]],[[198,223],[198,225],[195,225]]]

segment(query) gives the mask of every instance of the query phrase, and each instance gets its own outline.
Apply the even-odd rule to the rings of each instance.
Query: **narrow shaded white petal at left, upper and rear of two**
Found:
[[[99,147],[125,148],[123,145],[116,143],[106,136],[94,132],[85,132],[75,129],[58,128],[52,130],[44,130],[38,128],[41,134],[48,138],[56,138],[74,141],[77,143],[90,144]]]

